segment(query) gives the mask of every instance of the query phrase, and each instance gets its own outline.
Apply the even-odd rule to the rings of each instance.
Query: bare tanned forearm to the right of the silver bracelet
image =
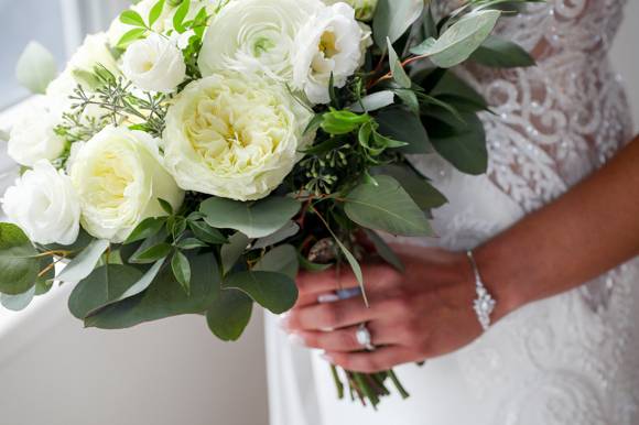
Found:
[[[503,316],[639,254],[639,138],[560,199],[479,247]],[[638,283],[639,284],[639,283]]]

